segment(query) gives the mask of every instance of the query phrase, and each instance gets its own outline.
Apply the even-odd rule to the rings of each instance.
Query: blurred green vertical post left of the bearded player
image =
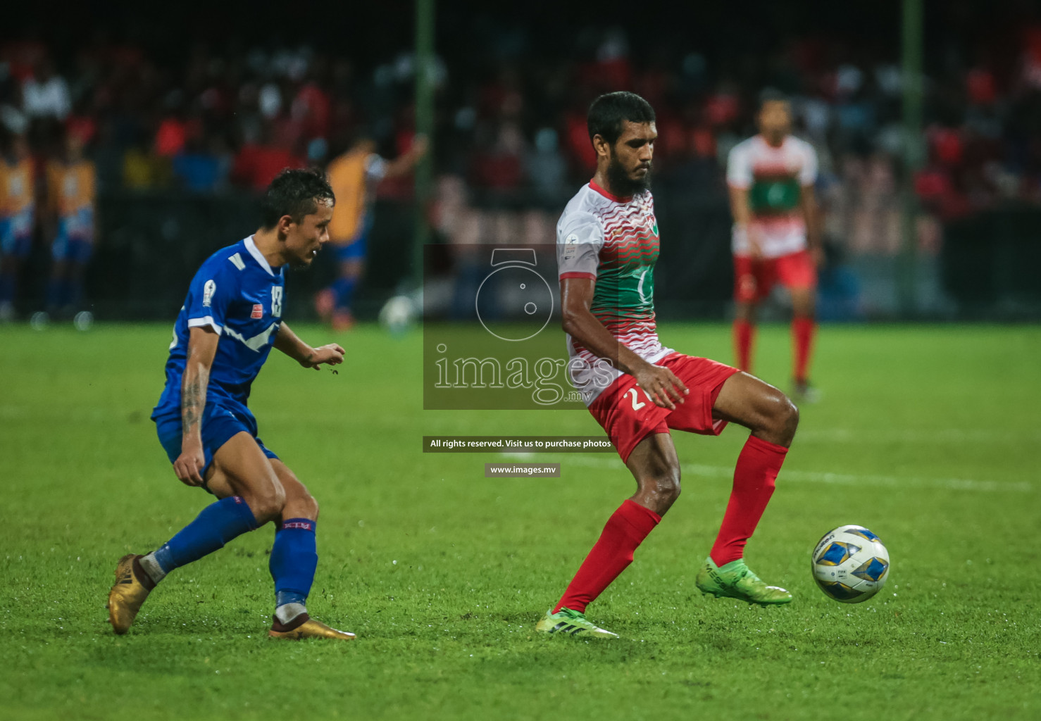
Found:
[[[427,206],[433,183],[434,130],[434,0],[415,0],[415,132],[430,143],[415,168],[415,227],[412,249],[412,282],[423,283],[424,248],[430,238]]]

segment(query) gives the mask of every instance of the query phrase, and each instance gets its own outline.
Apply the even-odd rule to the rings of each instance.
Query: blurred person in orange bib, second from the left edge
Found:
[[[82,299],[83,273],[94,253],[96,174],[78,133],[66,133],[62,150],[61,157],[47,165],[47,209],[54,238],[47,311],[71,314]]]

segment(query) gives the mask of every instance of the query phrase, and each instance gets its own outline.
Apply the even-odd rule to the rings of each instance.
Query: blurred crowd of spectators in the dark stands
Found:
[[[460,218],[487,206],[532,210],[531,233],[552,226],[591,172],[585,110],[606,91],[635,91],[657,109],[660,177],[721,187],[727,153],[754,132],[756,97],[769,86],[791,97],[796,133],[818,150],[832,233],[854,251],[898,244],[895,30],[888,45],[793,34],[735,58],[682,35],[652,49],[621,27],[587,27],[564,50],[548,48],[536,23],[473,27],[469,47],[440,44],[434,69],[437,222],[450,235],[482,232]],[[1041,202],[1041,23],[1027,17],[1011,35],[977,41],[941,47],[938,61],[926,48],[926,158],[914,187],[941,222]],[[325,165],[361,136],[393,157],[414,130],[408,45],[359,58],[345,48],[198,42],[159,61],[146,44],[103,31],[60,49],[12,37],[0,46],[4,151],[25,137],[43,166],[75,135],[102,194],[257,190],[281,168]],[[408,178],[379,188],[410,191]],[[930,237],[923,231],[922,242]]]

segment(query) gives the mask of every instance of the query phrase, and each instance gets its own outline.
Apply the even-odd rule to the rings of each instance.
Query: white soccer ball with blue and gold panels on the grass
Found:
[[[863,525],[840,525],[817,542],[811,559],[813,580],[829,598],[860,603],[889,577],[889,551]]]

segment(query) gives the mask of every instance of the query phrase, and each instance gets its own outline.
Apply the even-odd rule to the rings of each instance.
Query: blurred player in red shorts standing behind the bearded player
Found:
[[[734,214],[734,347],[752,371],[756,308],[775,283],[791,294],[792,380],[796,398],[814,400],[808,372],[816,333],[817,266],[823,262],[817,203],[817,154],[792,137],[791,106],[777,93],[760,100],[759,134],[734,146],[727,161]]]

